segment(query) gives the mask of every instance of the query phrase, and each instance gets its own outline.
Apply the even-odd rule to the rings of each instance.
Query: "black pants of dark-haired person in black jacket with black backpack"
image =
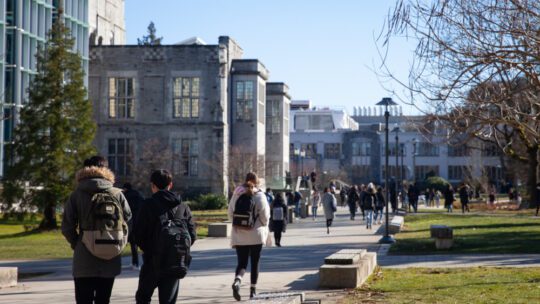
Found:
[[[135,300],[139,303],[150,303],[154,290],[158,289],[160,304],[176,303],[180,280],[172,277],[160,277],[156,274],[152,259],[143,255],[143,265],[139,274],[139,287]]]

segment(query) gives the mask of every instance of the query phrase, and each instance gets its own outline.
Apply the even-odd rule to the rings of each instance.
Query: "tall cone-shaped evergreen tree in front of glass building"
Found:
[[[29,102],[14,130],[11,165],[2,196],[8,204],[28,203],[43,211],[41,229],[54,229],[56,207],[75,184],[75,172],[94,153],[96,125],[87,99],[81,56],[59,17],[38,48],[37,74]]]

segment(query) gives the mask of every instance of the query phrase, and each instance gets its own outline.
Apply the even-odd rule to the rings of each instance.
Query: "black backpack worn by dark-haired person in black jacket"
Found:
[[[191,236],[179,211],[175,207],[159,216],[153,262],[159,275],[182,279],[191,264]]]

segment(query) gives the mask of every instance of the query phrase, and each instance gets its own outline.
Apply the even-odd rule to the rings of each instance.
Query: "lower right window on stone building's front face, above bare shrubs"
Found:
[[[173,143],[173,168],[176,174],[199,175],[199,140],[196,138],[177,139]]]

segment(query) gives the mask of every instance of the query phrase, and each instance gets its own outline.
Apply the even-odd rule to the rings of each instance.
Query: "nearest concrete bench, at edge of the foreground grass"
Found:
[[[325,258],[319,268],[319,287],[356,288],[377,266],[377,254],[365,249],[343,249]]]

